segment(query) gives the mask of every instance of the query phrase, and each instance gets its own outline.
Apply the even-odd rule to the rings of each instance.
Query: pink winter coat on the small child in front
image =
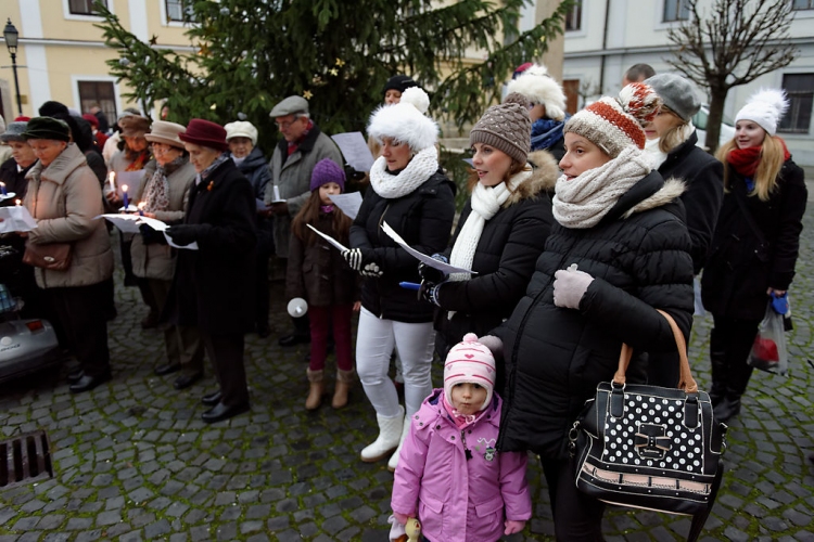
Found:
[[[524,452],[495,451],[501,400],[459,430],[441,401],[443,389],[424,399],[398,457],[391,506],[417,514],[432,542],[495,542],[504,520],[532,517]],[[471,452],[467,461],[466,451]]]

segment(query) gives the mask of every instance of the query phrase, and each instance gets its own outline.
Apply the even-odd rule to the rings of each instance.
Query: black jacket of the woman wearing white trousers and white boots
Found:
[[[399,282],[420,282],[418,260],[381,229],[387,222],[405,243],[423,254],[447,247],[455,218],[455,184],[438,169],[406,196],[385,199],[368,190],[351,227],[351,247],[371,249],[383,275],[365,279],[361,306],[379,318],[406,323],[432,322],[433,306],[418,301]]]

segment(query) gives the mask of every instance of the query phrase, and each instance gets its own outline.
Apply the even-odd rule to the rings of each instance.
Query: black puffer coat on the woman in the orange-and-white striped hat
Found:
[[[656,309],[689,335],[692,259],[682,190],[652,171],[597,225],[551,229],[525,297],[495,331],[507,370],[498,450],[565,459],[568,431],[597,384],[613,377],[623,343],[634,349],[628,378],[641,352],[676,349]],[[554,273],[572,263],[595,279],[578,310],[554,304]]]

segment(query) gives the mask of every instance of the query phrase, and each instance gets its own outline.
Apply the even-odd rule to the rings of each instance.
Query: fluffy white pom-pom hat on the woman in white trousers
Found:
[[[424,115],[430,106],[430,96],[419,87],[402,93],[402,100],[392,105],[378,107],[370,116],[368,136],[379,144],[382,138],[393,138],[407,143],[414,152],[435,145],[438,125]]]

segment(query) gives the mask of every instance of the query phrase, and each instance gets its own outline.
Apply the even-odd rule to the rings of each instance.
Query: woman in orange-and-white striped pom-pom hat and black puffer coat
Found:
[[[622,344],[641,352],[676,349],[670,313],[685,337],[692,322],[690,240],[677,197],[641,152],[640,124],[659,99],[633,83],[565,125],[557,181],[557,224],[509,320],[482,341],[506,360],[498,451],[540,455],[557,540],[601,540],[605,505],[577,491],[568,433],[596,386],[610,380]],[[640,372],[640,371],[639,371]]]

